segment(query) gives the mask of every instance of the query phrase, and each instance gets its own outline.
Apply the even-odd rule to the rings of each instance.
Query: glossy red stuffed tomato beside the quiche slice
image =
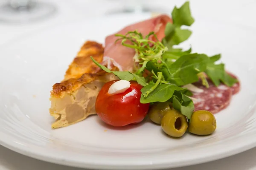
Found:
[[[136,124],[145,118],[149,103],[140,103],[142,85],[135,81],[130,81],[130,87],[119,94],[109,94],[108,90],[114,82],[107,82],[99,91],[96,99],[96,113],[103,122],[112,126],[125,126]]]

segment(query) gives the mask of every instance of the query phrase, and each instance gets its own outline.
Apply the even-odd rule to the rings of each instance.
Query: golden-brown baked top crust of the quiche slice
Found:
[[[53,85],[51,97],[62,98],[65,94],[76,91],[81,85],[92,82],[99,75],[105,74],[90,59],[92,56],[97,62],[102,62],[103,52],[102,44],[93,41],[85,42],[66,71],[64,80]]]

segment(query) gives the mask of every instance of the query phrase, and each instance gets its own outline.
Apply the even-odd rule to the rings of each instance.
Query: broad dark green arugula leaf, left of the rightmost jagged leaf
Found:
[[[186,54],[169,66],[166,81],[176,85],[186,85],[198,81],[197,74],[205,71],[209,58],[205,54]]]

